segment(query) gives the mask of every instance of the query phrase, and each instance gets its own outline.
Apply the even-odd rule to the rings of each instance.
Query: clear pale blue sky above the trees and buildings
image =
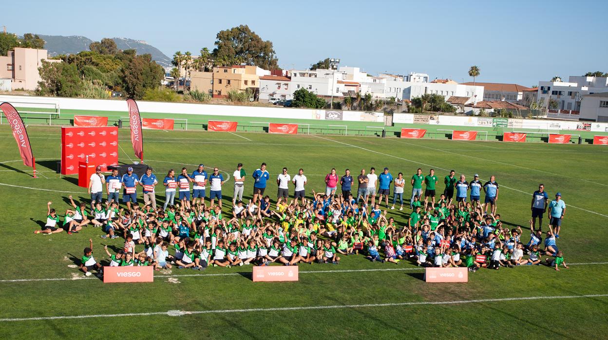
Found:
[[[23,15],[8,15],[24,12]],[[145,40],[171,57],[213,49],[219,30],[247,24],[274,43],[282,68],[326,58],[365,72],[536,85],[608,72],[606,1],[11,1],[9,32]],[[27,21],[17,19],[26,17]],[[179,24],[177,24],[179,21]]]

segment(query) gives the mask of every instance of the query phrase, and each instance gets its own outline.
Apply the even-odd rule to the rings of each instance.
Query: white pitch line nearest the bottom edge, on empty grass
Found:
[[[148,313],[125,313],[125,314],[91,314],[91,315],[67,315],[67,316],[39,316],[39,317],[13,317],[0,319],[0,322],[13,321],[40,321],[40,320],[60,320],[60,319],[90,319],[94,317],[123,317],[123,316],[184,316],[193,314],[219,314],[219,313],[250,313],[256,311],[298,311],[298,310],[328,310],[344,308],[377,308],[377,307],[397,307],[397,306],[420,306],[420,305],[461,305],[461,304],[483,304],[486,302],[508,302],[508,301],[529,301],[529,300],[557,300],[557,299],[585,299],[591,297],[606,297],[608,294],[585,294],[585,295],[562,295],[562,296],[527,296],[527,297],[503,297],[500,299],[475,299],[475,300],[448,300],[448,301],[412,301],[412,302],[393,302],[386,304],[359,304],[359,305],[325,305],[325,306],[300,306],[300,307],[274,307],[274,308],[246,308],[234,310],[199,310],[199,311],[156,311]]]

